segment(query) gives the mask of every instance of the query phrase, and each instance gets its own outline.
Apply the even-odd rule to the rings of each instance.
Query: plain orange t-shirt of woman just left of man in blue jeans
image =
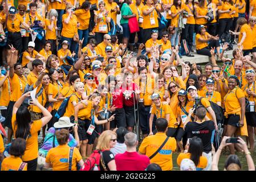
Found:
[[[78,19],[76,15],[72,15],[70,18],[70,22],[64,23],[64,20],[68,17],[68,14],[62,15],[62,36],[66,38],[73,38],[75,34],[78,33]]]

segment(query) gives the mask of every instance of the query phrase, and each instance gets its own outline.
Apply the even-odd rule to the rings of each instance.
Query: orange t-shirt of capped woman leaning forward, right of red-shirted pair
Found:
[[[174,123],[176,123],[176,117],[173,114],[173,111],[172,111],[172,109],[170,109],[170,106],[168,104],[161,103],[160,109],[157,109],[156,105],[153,104],[151,114],[155,114],[157,119],[165,118],[165,115],[169,114],[168,127],[173,127],[173,128],[176,127],[176,126],[174,126]]]

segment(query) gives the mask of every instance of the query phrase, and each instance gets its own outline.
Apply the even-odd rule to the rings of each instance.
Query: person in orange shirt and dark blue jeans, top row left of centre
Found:
[[[74,14],[78,18],[78,22],[80,26],[78,27],[78,35],[79,40],[83,40],[82,47],[85,47],[88,43],[88,35],[89,35],[89,21],[90,21],[90,7],[91,3],[88,1],[84,1],[82,6],[78,7],[75,10]]]

